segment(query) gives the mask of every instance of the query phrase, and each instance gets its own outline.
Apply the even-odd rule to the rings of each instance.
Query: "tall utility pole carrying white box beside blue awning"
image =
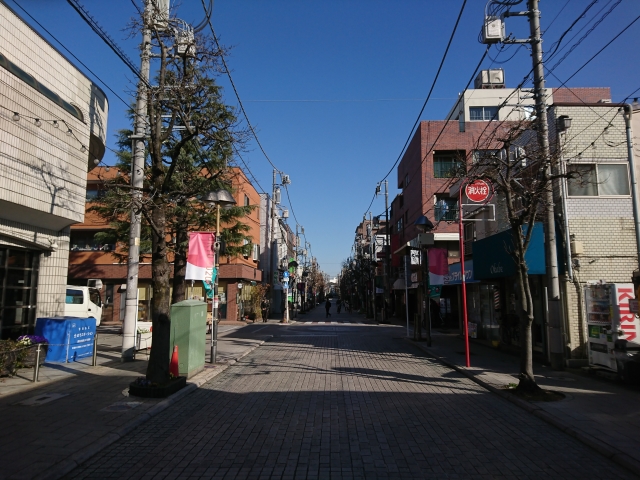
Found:
[[[545,243],[547,245],[547,288],[548,288],[548,334],[551,367],[555,370],[563,368],[563,347],[560,305],[560,281],[558,277],[558,251],[556,246],[555,209],[553,202],[553,169],[549,148],[549,125],[547,123],[547,94],[544,79],[544,63],[542,60],[542,32],[540,30],[539,0],[527,0],[526,12],[506,11],[504,17],[523,17],[529,19],[530,36],[524,40],[504,38],[504,25],[497,17],[485,18],[483,27],[484,43],[528,43],[531,45],[531,59],[533,60],[533,83],[536,101],[536,122],[538,144],[545,162],[544,175],[547,182],[544,201],[546,213],[544,219]]]

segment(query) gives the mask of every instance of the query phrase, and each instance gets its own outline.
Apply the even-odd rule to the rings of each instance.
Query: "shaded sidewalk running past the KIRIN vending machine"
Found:
[[[558,402],[526,402],[505,391],[507,385],[518,383],[519,357],[472,340],[471,367],[466,368],[460,335],[434,332],[431,347],[424,342],[414,344],[640,476],[638,387],[587,376],[581,370],[554,371],[534,364],[538,384],[562,392],[566,398]]]

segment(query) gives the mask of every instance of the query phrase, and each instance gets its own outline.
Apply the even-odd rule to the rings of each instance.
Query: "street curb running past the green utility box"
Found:
[[[272,337],[272,335],[270,335],[269,337]],[[214,377],[217,377],[222,372],[224,372],[227,368],[229,368],[231,365],[233,365],[234,363],[238,362],[239,360],[249,355],[256,348],[262,346],[267,340],[268,339],[258,341],[256,345],[249,348],[246,352],[229,360],[226,363],[216,364],[215,369],[205,369],[204,371],[198,373],[197,375],[195,375],[193,378],[189,380],[189,382],[187,383],[187,386],[184,387],[183,389],[178,390],[173,395],[170,395],[164,400],[162,400],[161,402],[158,402],[149,410],[138,415],[136,418],[134,418],[130,422],[117,428],[115,431],[105,434],[103,437],[100,438],[100,440],[96,440],[95,442],[87,445],[86,447],[81,448],[80,450],[75,452],[73,455],[53,465],[47,470],[46,474],[38,474],[34,478],[38,478],[39,480],[58,480],[59,478],[62,478],[63,476],[70,473],[75,468],[79,467],[84,462],[89,460],[94,455],[100,453],[102,450],[104,450],[114,442],[120,440],[122,437],[131,433],[133,430],[135,430],[136,428],[138,428],[148,420],[151,420],[160,412],[163,412],[170,406],[182,400],[183,397],[186,397],[187,395],[195,392],[198,388],[200,388],[202,385],[207,383],[209,380],[211,380]]]

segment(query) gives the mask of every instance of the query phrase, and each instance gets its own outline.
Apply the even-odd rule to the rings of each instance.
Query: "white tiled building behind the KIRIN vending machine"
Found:
[[[565,341],[569,355],[584,357],[587,343],[585,282],[631,283],[638,266],[629,160],[621,105],[556,103],[549,109],[550,142],[561,152],[561,167],[580,170],[556,189],[556,234],[564,243]],[[571,127],[558,131],[562,116]],[[574,248],[571,248],[573,242]]]

